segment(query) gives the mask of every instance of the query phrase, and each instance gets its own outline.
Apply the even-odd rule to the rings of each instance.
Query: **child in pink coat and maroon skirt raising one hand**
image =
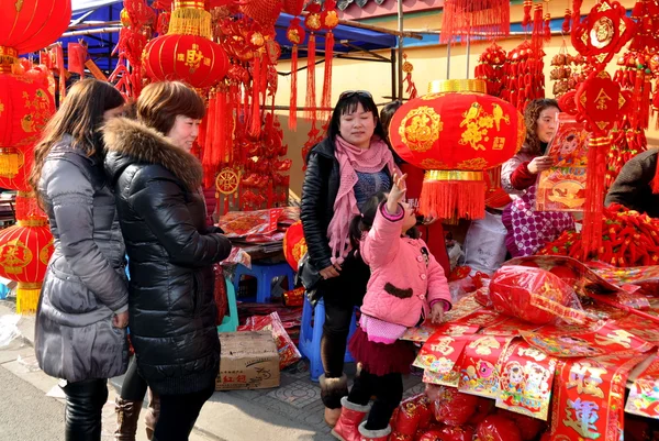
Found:
[[[353,246],[359,247],[371,276],[359,328],[349,342],[358,373],[332,431],[344,441],[388,439],[389,420],[403,396],[402,374],[415,357],[413,344],[399,338],[425,318],[440,322],[450,309],[444,269],[416,239],[414,210],[402,202],[405,176],[394,175],[389,195],[373,196],[350,224]]]

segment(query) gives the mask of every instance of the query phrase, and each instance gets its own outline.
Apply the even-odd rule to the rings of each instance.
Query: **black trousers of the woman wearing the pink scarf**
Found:
[[[370,277],[370,269],[361,257],[353,254],[346,257],[342,268],[340,276],[325,280],[322,288],[325,324],[321,339],[321,360],[327,378],[343,375],[350,320],[355,307],[361,306]]]

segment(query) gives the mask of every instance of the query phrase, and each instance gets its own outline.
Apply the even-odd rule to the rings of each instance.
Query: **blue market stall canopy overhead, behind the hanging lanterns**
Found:
[[[111,71],[116,63],[116,54],[112,56],[112,51],[119,38],[120,13],[123,8],[121,0],[72,0],[74,14],[71,18],[71,27],[69,34],[76,35],[63,36],[62,42],[65,55],[69,42],[77,43],[85,40],[88,44],[89,56],[93,62],[105,71]],[[290,57],[291,43],[286,37],[286,30],[289,26],[292,15],[282,13],[276,23],[277,42],[282,47],[282,58]],[[94,32],[94,30],[104,29],[105,32]],[[316,47],[321,49],[325,46],[325,32],[316,34]],[[309,33],[308,33],[309,37]],[[337,57],[353,56],[360,53],[387,49],[395,47],[396,37],[382,32],[358,29],[345,24],[339,24],[334,29],[334,53]],[[306,56],[306,42],[300,46],[300,57]],[[377,55],[367,55],[368,59],[377,58]]]

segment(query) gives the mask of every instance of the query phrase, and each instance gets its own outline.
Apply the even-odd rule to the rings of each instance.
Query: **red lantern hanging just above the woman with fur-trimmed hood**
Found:
[[[154,80],[182,80],[202,88],[224,78],[228,57],[222,46],[202,36],[168,34],[148,42],[144,67]]]

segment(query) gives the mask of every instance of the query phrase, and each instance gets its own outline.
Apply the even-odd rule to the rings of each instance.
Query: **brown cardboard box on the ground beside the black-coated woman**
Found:
[[[270,331],[221,332],[215,390],[279,386],[279,353]]]

